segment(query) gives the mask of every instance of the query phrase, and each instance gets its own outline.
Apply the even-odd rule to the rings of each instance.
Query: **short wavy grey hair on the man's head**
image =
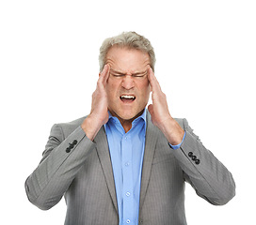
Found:
[[[147,52],[151,59],[152,70],[154,71],[155,54],[152,44],[149,39],[136,34],[136,32],[123,32],[119,36],[109,37],[104,40],[99,55],[100,71],[104,69],[106,54],[112,46]]]

